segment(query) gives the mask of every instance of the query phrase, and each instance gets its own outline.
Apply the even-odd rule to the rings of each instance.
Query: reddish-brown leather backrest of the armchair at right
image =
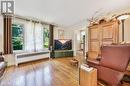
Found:
[[[101,53],[100,65],[120,72],[126,70],[129,61],[128,56],[130,56],[130,46],[103,46]]]

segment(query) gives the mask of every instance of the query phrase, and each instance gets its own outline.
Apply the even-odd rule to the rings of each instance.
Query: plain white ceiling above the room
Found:
[[[85,21],[96,11],[107,13],[130,7],[130,0],[15,0],[15,14],[64,27]]]

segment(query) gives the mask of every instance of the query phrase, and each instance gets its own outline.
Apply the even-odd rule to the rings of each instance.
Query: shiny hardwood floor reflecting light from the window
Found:
[[[0,86],[78,86],[78,68],[70,65],[70,59],[40,60],[8,67]]]

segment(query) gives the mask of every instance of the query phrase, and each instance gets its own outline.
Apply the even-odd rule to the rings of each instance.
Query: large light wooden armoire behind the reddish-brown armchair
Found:
[[[88,27],[88,58],[96,59],[102,45],[119,42],[119,21],[113,20]],[[97,54],[97,55],[96,55]]]

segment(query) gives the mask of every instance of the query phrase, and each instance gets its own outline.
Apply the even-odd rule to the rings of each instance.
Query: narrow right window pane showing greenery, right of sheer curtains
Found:
[[[43,30],[44,48],[49,48],[49,27],[44,27]]]

